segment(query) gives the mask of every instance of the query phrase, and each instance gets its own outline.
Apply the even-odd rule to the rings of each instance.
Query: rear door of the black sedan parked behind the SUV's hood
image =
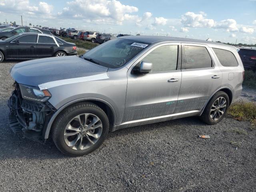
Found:
[[[57,48],[58,45],[53,37],[38,34],[37,58],[52,57]]]

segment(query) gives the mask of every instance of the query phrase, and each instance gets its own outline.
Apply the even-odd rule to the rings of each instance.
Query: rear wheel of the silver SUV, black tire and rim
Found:
[[[218,99],[218,101],[217,101],[217,99]],[[224,103],[224,100],[226,100],[226,103]],[[215,108],[215,106],[218,106],[217,103],[219,103],[219,102],[220,102],[220,104],[219,104],[220,107]],[[225,106],[225,107],[223,107],[223,106]],[[228,110],[228,107],[229,107],[228,94],[226,94],[223,91],[218,91],[212,96],[212,98],[206,105],[206,108],[204,109],[204,112],[200,116],[200,119],[209,125],[217,124],[224,118],[224,116]],[[214,118],[215,113],[216,113],[216,118]]]

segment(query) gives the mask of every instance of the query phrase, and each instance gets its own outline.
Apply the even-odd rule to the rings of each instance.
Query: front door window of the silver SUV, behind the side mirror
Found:
[[[178,45],[161,46],[142,59],[153,64],[151,72],[173,71],[177,68]]]

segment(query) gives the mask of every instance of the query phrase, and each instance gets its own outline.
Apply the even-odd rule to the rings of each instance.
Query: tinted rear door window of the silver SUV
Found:
[[[184,46],[185,69],[200,69],[212,67],[212,58],[206,47]]]

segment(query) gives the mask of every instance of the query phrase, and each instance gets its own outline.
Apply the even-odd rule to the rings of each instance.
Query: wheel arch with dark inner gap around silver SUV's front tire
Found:
[[[98,99],[98,98],[80,98],[80,99],[76,99],[73,100],[71,102],[68,102],[67,104],[61,106],[50,118],[50,121],[48,122],[48,125],[46,127],[46,129],[43,131],[43,138],[47,139],[50,135],[50,131],[52,130],[52,125],[54,124],[54,121],[56,120],[56,118],[58,117],[58,115],[65,110],[66,108],[68,108],[69,106],[76,104],[76,103],[80,103],[80,102],[92,102],[96,105],[98,105],[100,108],[102,108],[102,110],[106,113],[106,115],[108,116],[108,120],[110,122],[110,132],[112,131],[113,125],[116,124],[116,112],[113,108],[113,106],[106,102],[105,100],[102,99]]]

